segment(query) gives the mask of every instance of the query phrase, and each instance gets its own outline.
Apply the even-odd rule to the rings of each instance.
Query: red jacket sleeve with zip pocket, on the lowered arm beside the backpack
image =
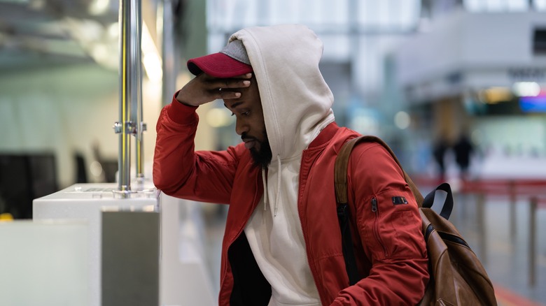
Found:
[[[367,257],[360,263],[371,268],[332,305],[416,305],[428,283],[428,258],[419,209],[400,167],[381,145],[361,144],[349,159],[348,184],[357,244]]]

